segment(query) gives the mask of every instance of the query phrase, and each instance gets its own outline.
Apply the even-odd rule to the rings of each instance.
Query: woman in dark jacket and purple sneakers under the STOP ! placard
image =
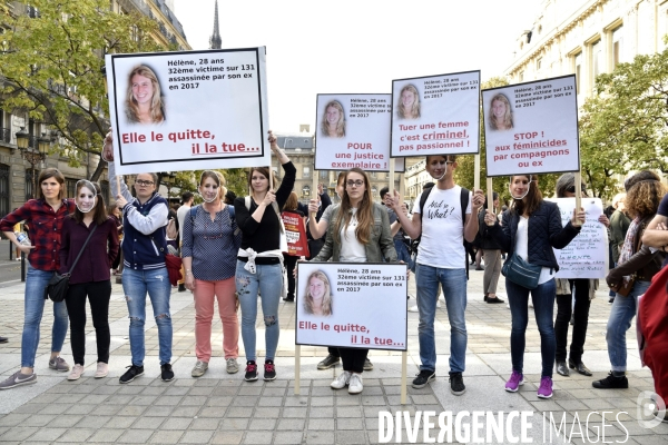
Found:
[[[488,233],[494,237],[508,259],[503,266],[505,290],[512,318],[510,333],[510,354],[512,375],[505,384],[505,390],[514,393],[524,384],[524,346],[527,324],[529,323],[529,294],[533,300],[536,323],[540,332],[540,353],[542,373],[538,397],[552,397],[552,366],[554,363],[554,326],[552,313],[557,287],[554,271],[559,264],[554,249],[562,249],[580,233],[584,224],[584,211],[576,211],[571,220],[561,226],[561,212],[554,202],[543,201],[538,188],[536,175],[515,175],[510,178],[512,206],[503,214],[503,225],[488,210],[484,221]],[[578,222],[579,221],[579,222]],[[534,274],[533,283],[512,276],[508,266],[518,265]]]

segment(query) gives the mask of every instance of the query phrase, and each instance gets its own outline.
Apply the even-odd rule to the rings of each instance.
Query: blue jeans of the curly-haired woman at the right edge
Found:
[[[615,297],[606,330],[608,357],[612,370],[626,370],[626,332],[631,327],[631,320],[636,316],[638,296],[645,294],[649,285],[649,281],[636,281],[627,297],[619,294]]]

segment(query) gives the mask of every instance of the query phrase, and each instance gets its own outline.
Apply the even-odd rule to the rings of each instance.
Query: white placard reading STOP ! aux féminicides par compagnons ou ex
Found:
[[[576,76],[482,91],[487,176],[580,171]]]

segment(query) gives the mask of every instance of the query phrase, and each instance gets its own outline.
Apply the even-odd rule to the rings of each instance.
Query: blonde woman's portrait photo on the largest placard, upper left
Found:
[[[130,71],[125,109],[128,123],[165,121],[165,100],[160,82],[148,66],[139,65]]]

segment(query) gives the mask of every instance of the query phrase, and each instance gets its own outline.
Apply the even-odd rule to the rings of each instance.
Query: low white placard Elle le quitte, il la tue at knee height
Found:
[[[406,265],[297,263],[297,345],[406,350]]]

